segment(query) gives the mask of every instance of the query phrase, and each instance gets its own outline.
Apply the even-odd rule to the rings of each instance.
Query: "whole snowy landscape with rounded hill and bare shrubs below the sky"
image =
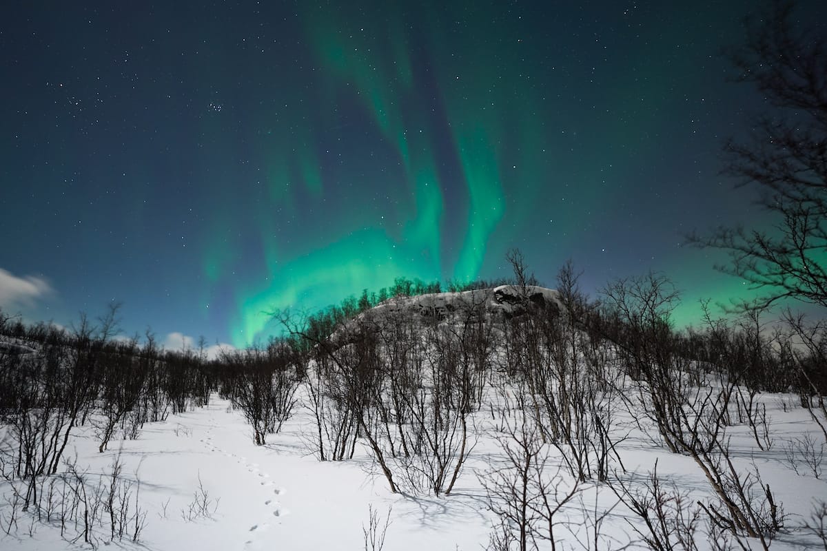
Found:
[[[615,344],[532,317],[549,307],[543,287],[398,298],[344,345],[213,362],[6,340],[0,547],[823,548],[819,397],[685,347],[630,377]]]

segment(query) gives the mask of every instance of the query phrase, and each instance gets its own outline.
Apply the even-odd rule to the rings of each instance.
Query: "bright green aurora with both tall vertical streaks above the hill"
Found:
[[[343,204],[342,209],[351,212],[332,221],[327,234],[309,230],[304,249],[280,243],[268,235],[270,228],[262,227],[266,285],[252,283],[250,277],[234,286],[234,344],[262,335],[267,320],[261,312],[274,307],[298,302],[322,307],[362,288],[390,285],[399,276],[474,279],[489,255],[492,235],[509,214],[506,206],[514,209],[512,227],[523,223],[527,213],[537,214],[527,191],[547,185],[536,179],[536,174],[546,173],[547,159],[538,157],[544,131],[536,112],[537,94],[530,86],[514,88],[528,69],[518,61],[524,50],[485,40],[494,29],[483,13],[471,15],[472,26],[482,31],[466,36],[471,37],[467,44],[447,37],[452,17],[437,22],[423,16],[428,25],[410,31],[398,11],[385,15],[379,29],[366,29],[357,12],[331,6],[307,8],[303,19],[324,102],[332,107],[357,102],[372,132],[398,159],[398,175],[382,183],[390,204],[385,201],[383,212],[358,202]],[[500,63],[505,78],[495,82],[490,62],[500,55],[513,57],[515,63]],[[314,126],[313,116],[300,108],[287,116],[280,124],[298,129],[296,135],[292,140],[275,136],[272,149],[261,152],[270,167],[270,207],[282,211],[312,207],[313,201],[337,193],[312,152],[326,126],[339,121],[317,119]],[[337,178],[341,186],[356,177],[337,173]],[[296,186],[299,182],[301,187]],[[506,196],[506,186],[516,190],[516,199]],[[341,237],[354,232],[371,238],[357,245],[351,237]],[[371,268],[370,262],[391,253],[392,261]],[[208,272],[214,279],[214,265],[227,254],[211,256]]]

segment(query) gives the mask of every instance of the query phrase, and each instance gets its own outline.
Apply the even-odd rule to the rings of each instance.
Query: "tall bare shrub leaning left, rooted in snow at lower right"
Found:
[[[717,380],[706,378],[704,387],[691,384],[700,377],[691,374],[692,363],[680,353],[680,341],[669,325],[676,294],[664,278],[649,274],[647,278],[619,280],[609,284],[605,295],[610,316],[607,334],[637,381],[639,402],[627,401],[630,413],[634,416],[631,408],[642,405],[643,415],[657,426],[667,448],[691,457],[704,473],[715,501],[700,506],[716,530],[735,539],[758,539],[767,549],[782,529],[784,515],[754,463],[752,470],[744,473],[732,461],[725,427],[730,422],[730,402],[736,388],[729,376],[734,371],[719,373]],[[727,355],[728,341],[723,342],[720,350],[729,362],[734,356]],[[759,344],[756,341],[754,346]],[[752,407],[749,402],[747,406]],[[761,440],[759,435],[759,444]]]

